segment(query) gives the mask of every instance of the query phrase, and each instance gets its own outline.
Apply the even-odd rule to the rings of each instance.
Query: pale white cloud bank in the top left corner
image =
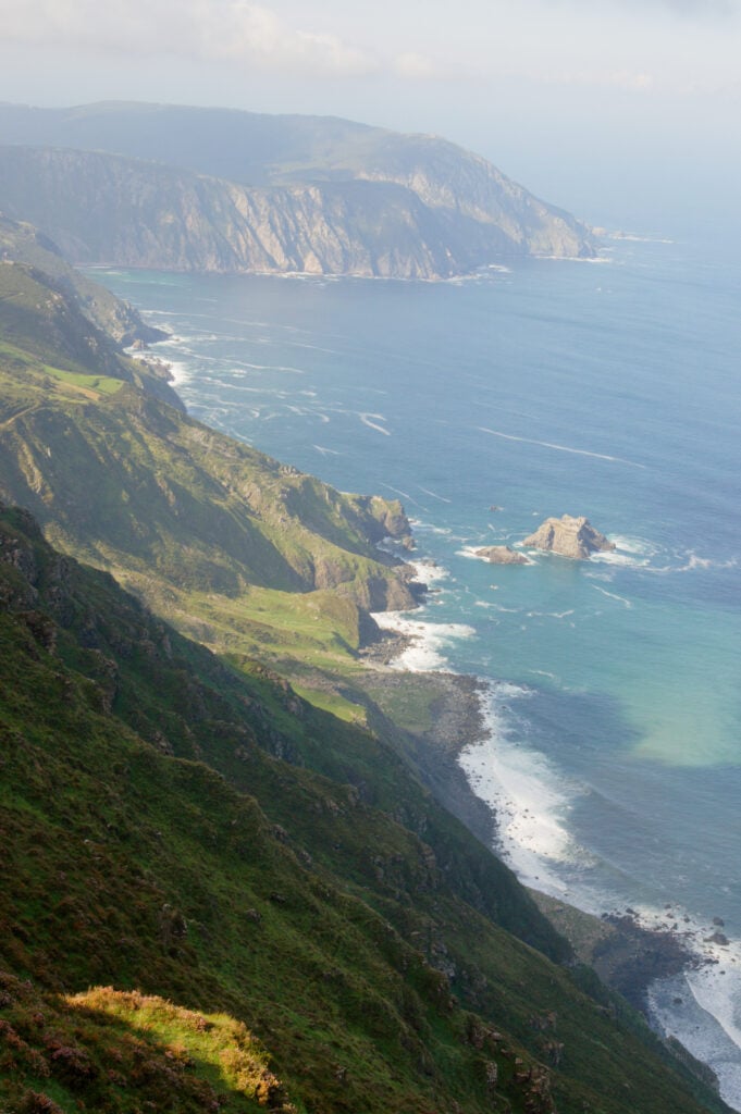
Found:
[[[289,26],[245,0],[0,0],[6,42],[246,62],[312,77],[363,76],[373,53]]]

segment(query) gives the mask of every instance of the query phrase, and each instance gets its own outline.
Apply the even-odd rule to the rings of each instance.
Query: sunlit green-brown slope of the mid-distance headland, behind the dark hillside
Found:
[[[177,625],[236,656],[301,642],[334,665],[359,607],[410,604],[374,548],[408,529],[398,502],[340,495],[153,397],[28,268],[0,265],[0,494]]]

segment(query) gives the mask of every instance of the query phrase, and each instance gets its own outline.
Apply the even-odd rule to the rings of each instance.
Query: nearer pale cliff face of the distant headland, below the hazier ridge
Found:
[[[420,174],[410,180],[422,185]],[[43,228],[77,263],[435,278],[534,246],[592,251],[576,222],[534,199],[523,207],[527,221],[514,203],[482,219],[484,201],[457,209],[441,204],[449,198],[437,183],[425,184],[435,205],[380,177],[250,188],[100,153],[0,150],[4,211]]]

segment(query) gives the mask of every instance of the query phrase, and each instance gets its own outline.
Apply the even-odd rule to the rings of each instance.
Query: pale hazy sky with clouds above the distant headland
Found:
[[[738,207],[741,0],[0,0],[0,100],[437,133],[656,234]]]

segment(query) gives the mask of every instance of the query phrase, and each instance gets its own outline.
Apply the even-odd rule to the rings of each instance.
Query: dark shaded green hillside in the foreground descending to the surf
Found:
[[[131,1059],[131,999],[53,997],[95,984],[227,1013],[232,1034],[246,1025],[282,1081],[277,1108],[286,1094],[368,1114],[703,1108],[633,1015],[498,927],[564,955],[509,872],[382,743],[269,676],[230,675],[18,511],[2,515],[0,553],[0,964],[35,981],[41,1015],[35,1029],[31,990],[6,977],[11,1110],[43,1108],[29,1093],[65,1111],[157,1104],[157,1066],[144,1079],[109,1066],[111,1040]],[[155,1025],[158,1064],[182,1056],[188,1016]],[[55,1039],[72,1053],[55,1057]],[[188,1040],[203,1085],[242,1101],[213,1049]]]

